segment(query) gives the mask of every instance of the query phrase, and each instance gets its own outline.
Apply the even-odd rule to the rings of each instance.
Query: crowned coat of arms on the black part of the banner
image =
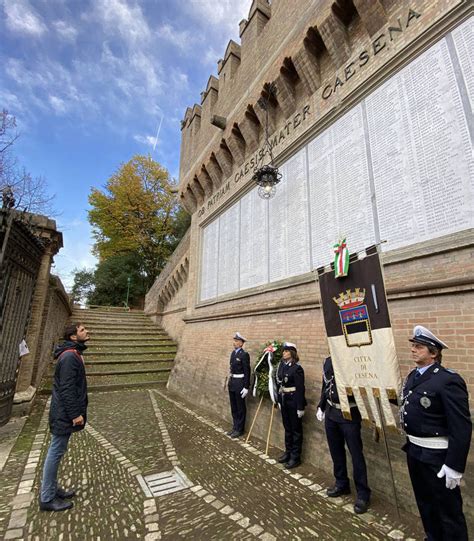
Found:
[[[370,319],[367,306],[364,304],[365,289],[356,287],[348,289],[333,297],[339,307],[342,330],[349,347],[368,346],[372,343]]]

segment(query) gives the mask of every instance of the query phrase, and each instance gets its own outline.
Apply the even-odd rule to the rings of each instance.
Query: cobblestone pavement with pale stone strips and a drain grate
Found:
[[[262,442],[231,440],[221,421],[156,389],[91,394],[90,423],[71,438],[60,472],[77,491],[74,507],[40,512],[48,407],[38,399],[3,467],[0,538],[422,538],[415,517],[402,525],[376,499],[355,515],[350,497],[325,497],[327,475],[308,465],[285,470],[271,458],[278,449],[267,456]]]

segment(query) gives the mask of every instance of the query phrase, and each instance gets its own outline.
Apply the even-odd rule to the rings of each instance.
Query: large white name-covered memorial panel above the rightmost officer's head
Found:
[[[366,106],[384,250],[472,227],[472,150],[446,40]]]

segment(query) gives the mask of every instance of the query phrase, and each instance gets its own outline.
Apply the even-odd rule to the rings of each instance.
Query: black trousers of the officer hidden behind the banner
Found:
[[[332,406],[328,406],[328,409]],[[325,428],[329,451],[333,462],[334,477],[338,488],[349,487],[347,475],[346,449],[347,444],[352,457],[352,474],[356,486],[357,497],[364,501],[370,499],[370,488],[367,482],[367,466],[365,463],[361,432],[361,423],[337,422],[330,418],[326,411]]]

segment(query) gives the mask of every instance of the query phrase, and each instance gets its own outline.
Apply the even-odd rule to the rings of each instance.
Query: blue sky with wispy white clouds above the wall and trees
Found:
[[[66,287],[91,268],[91,187],[134,154],[177,178],[180,121],[200,102],[251,0],[0,0],[0,109],[19,161],[55,195]],[[155,145],[155,136],[162,120]]]

